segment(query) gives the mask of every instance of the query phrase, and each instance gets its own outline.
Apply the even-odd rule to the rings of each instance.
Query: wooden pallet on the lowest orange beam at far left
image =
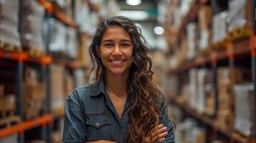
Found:
[[[1,112],[0,129],[9,128],[19,122],[21,122],[21,119],[14,115],[14,112]]]

